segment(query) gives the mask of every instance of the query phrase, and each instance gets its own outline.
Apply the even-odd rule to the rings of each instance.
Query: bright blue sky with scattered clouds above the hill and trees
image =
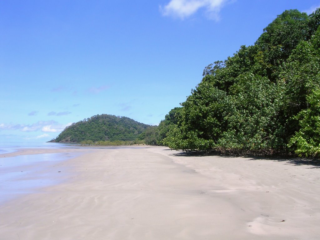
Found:
[[[0,1],[0,143],[44,142],[97,114],[159,124],[204,67],[320,1]]]

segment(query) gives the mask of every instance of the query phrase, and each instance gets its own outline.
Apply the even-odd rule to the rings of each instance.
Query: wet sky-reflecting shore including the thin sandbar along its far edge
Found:
[[[64,162],[81,155],[82,152],[70,152],[68,149],[19,148],[1,154],[0,205],[59,184],[68,175],[67,169],[63,167]]]

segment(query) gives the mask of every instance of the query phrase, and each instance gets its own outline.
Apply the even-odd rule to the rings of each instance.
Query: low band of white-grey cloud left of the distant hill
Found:
[[[59,124],[56,121],[38,121],[34,124],[0,124],[0,130],[20,130],[22,132],[61,132],[68,124]]]

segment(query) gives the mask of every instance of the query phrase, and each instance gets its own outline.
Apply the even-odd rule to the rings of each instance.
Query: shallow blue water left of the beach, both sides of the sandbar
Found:
[[[0,154],[12,153],[25,148],[79,148],[76,144],[62,143],[0,143]],[[76,154],[47,153],[0,158],[0,204],[21,194],[28,194],[50,185],[58,184],[67,177],[53,165],[75,157]],[[49,166],[52,168],[49,169]]]

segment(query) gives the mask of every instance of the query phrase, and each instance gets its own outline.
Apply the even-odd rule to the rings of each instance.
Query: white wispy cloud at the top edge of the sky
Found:
[[[185,19],[195,14],[199,9],[205,9],[208,17],[219,20],[219,12],[223,4],[228,0],[171,0],[164,7],[160,6],[160,12],[164,16]]]

